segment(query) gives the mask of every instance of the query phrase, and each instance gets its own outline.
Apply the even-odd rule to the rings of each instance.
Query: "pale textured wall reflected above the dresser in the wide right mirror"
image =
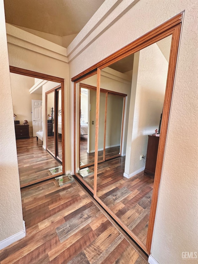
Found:
[[[136,89],[135,106],[131,98],[131,125],[127,135],[125,173],[129,175],[145,166],[144,160],[140,161],[140,155],[146,155],[148,135],[159,128],[168,73],[168,62],[156,43],[138,53],[138,73],[134,71],[133,75],[137,83],[136,87],[131,88]],[[133,93],[131,96],[134,96]]]

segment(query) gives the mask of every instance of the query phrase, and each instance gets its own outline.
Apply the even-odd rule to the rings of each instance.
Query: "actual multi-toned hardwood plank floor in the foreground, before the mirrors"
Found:
[[[26,237],[0,251],[1,264],[147,263],[76,182],[48,180],[21,197]]]

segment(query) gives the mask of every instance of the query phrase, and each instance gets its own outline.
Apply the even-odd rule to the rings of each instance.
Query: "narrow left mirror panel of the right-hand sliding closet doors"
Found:
[[[76,84],[76,167],[78,175],[93,188],[95,158],[97,75]],[[92,168],[90,167],[92,166]]]

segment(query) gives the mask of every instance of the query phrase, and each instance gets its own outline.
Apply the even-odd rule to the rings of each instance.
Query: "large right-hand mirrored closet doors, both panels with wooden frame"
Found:
[[[85,77],[73,78],[79,139],[75,144],[75,175],[148,254],[181,18],[182,14],[173,18],[172,24],[166,22],[91,67],[89,71],[95,68],[97,75],[85,76],[87,70]],[[80,129],[84,123],[86,140]],[[93,156],[88,160],[89,153]],[[87,173],[84,177],[80,174],[83,169]]]

